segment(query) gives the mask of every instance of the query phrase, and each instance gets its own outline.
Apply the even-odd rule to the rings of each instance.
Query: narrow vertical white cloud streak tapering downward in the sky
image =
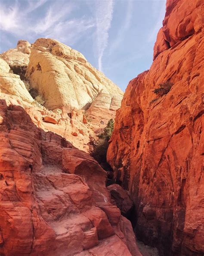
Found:
[[[97,1],[95,3],[96,18],[96,51],[98,67],[102,71],[102,57],[108,45],[108,31],[113,17],[114,1]]]

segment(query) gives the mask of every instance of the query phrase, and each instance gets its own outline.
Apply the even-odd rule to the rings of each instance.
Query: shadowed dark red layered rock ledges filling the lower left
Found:
[[[0,100],[0,255],[141,256],[85,152]]]

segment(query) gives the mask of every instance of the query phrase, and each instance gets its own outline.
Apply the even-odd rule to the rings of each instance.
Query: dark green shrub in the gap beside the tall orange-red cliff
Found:
[[[89,142],[89,153],[98,161],[98,163],[105,170],[111,170],[111,166],[107,163],[106,155],[108,150],[108,141],[111,138],[111,134],[114,128],[114,120],[110,119],[108,124],[103,129],[103,132],[98,135],[98,140],[90,138]]]

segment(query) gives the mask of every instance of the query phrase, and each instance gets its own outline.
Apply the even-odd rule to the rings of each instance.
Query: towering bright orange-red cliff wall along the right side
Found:
[[[201,256],[204,4],[168,0],[166,10],[154,62],[117,111],[108,161],[133,197],[139,238],[161,255]]]

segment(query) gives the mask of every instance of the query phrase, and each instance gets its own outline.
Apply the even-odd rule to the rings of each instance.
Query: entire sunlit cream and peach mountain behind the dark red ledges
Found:
[[[26,82],[25,82],[26,81]],[[45,106],[36,106],[24,83],[37,90]],[[22,106],[44,131],[53,131],[88,150],[121,106],[123,92],[92,67],[78,51],[56,40],[39,38],[0,54],[1,99]]]

